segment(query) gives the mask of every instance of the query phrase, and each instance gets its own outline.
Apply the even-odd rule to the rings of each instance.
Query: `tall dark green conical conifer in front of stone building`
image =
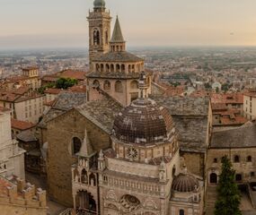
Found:
[[[215,215],[242,215],[239,209],[241,193],[234,182],[235,171],[227,156],[223,157],[222,172],[217,186]]]

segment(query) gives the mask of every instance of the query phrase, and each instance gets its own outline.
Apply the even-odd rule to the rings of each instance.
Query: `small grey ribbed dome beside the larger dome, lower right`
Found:
[[[199,188],[199,181],[190,174],[180,174],[172,181],[172,190],[180,193],[190,193]]]

